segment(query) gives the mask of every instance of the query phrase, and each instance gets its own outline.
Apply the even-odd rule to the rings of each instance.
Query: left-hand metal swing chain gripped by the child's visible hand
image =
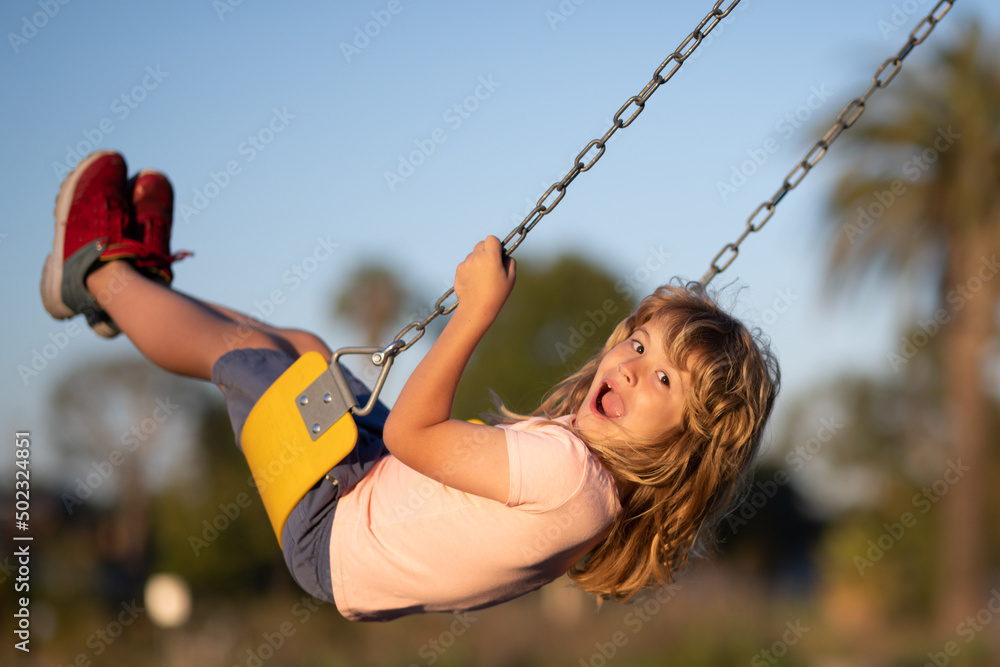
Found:
[[[562,201],[563,196],[566,194],[566,188],[570,183],[573,182],[577,176],[581,173],[588,171],[591,167],[597,164],[597,161],[601,159],[604,155],[604,149],[609,139],[617,132],[619,129],[628,127],[632,124],[640,113],[642,113],[643,108],[646,105],[646,101],[656,92],[657,88],[662,86],[664,83],[669,81],[677,70],[681,68],[688,57],[694,53],[694,50],[698,48],[702,40],[708,36],[710,32],[727,16],[730,12],[740,3],[740,0],[732,0],[728,7],[722,9],[725,0],[718,0],[712,10],[701,20],[698,26],[684,38],[683,41],[677,46],[673,53],[667,56],[656,71],[653,72],[653,78],[650,79],[638,94],[633,95],[625,101],[625,104],[621,106],[620,109],[614,115],[614,122],[611,128],[605,132],[604,136],[599,139],[594,139],[588,143],[582,151],[576,156],[573,162],[573,167],[566,173],[565,176],[559,181],[553,183],[548,190],[545,191],[541,197],[539,197],[538,202],[535,207],[531,210],[528,215],[525,216],[524,220],[521,221],[503,240],[503,252],[505,255],[510,255],[514,250],[521,245],[521,241],[524,237],[528,235],[535,225],[537,225],[542,218],[552,212],[552,210]],[[673,63],[673,67],[670,68],[665,74],[663,71]],[[629,113],[627,118],[622,118],[623,115]],[[584,159],[586,158],[586,162]],[[551,202],[547,200],[552,198]],[[448,300],[452,294],[455,293],[455,288],[451,287],[446,291],[441,297],[434,303],[434,310],[425,317],[423,320],[413,321],[407,324],[403,329],[396,334],[389,345],[384,349],[377,351],[372,354],[372,363],[376,366],[382,366],[387,361],[391,360],[400,352],[409,349],[414,343],[420,340],[427,326],[434,321],[439,315],[448,315],[458,306],[458,301],[454,301],[451,304],[445,305],[445,301]],[[405,340],[407,334],[411,331],[416,331],[413,338],[410,340]]]

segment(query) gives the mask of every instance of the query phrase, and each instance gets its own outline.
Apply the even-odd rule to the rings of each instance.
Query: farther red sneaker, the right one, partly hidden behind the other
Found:
[[[132,193],[132,218],[143,246],[136,268],[169,285],[174,279],[170,265],[191,255],[187,251],[170,252],[174,189],[160,172],[143,169],[129,181],[128,190]]]

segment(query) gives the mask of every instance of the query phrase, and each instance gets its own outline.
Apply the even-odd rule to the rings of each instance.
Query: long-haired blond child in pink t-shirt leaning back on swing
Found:
[[[126,175],[104,151],[63,183],[45,307],[85,313],[159,366],[217,384],[239,443],[250,409],[294,359],[314,350],[329,360],[330,350],[170,289],[170,184]],[[349,619],[482,608],[567,571],[586,591],[626,600],[671,582],[740,491],[777,365],[696,285],[643,300],[531,415],[504,411],[498,426],[451,419],[514,275],[496,238],[476,245],[456,271],[457,308],[391,413],[378,404],[356,419],[354,451],[285,524],[293,578]],[[367,390],[349,382],[364,404]]]

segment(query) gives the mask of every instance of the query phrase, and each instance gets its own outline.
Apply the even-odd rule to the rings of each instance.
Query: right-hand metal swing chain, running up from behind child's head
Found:
[[[826,151],[830,147],[830,144],[836,141],[837,137],[840,136],[840,133],[850,128],[857,122],[858,118],[861,117],[861,114],[864,113],[865,104],[868,102],[868,98],[871,94],[879,88],[885,88],[889,85],[889,82],[892,81],[899,73],[899,70],[903,66],[903,60],[906,56],[910,55],[913,47],[921,44],[925,39],[927,39],[927,36],[931,34],[932,30],[934,30],[934,26],[936,26],[938,22],[945,17],[945,14],[948,13],[953,4],[955,4],[955,0],[940,0],[940,2],[935,5],[934,9],[931,10],[930,14],[924,17],[924,19],[917,24],[917,27],[913,29],[910,33],[910,38],[907,40],[906,44],[903,45],[903,48],[901,48],[896,55],[891,56],[884,63],[882,63],[882,66],[875,71],[875,75],[872,77],[872,84],[869,86],[868,90],[865,91],[864,95],[851,100],[847,106],[844,107],[840,114],[838,114],[837,120],[834,121],[833,126],[826,131],[826,134],[824,134],[823,137],[809,149],[809,152],[806,153],[805,157],[795,165],[787,176],[785,176],[785,180],[781,184],[781,187],[778,188],[777,192],[775,192],[770,199],[762,203],[753,213],[750,214],[750,217],[747,218],[746,229],[743,230],[743,233],[740,234],[740,236],[732,243],[727,243],[722,246],[722,249],[712,259],[708,271],[699,281],[702,285],[707,285],[713,278],[715,278],[715,276],[729,268],[729,265],[732,264],[733,260],[735,260],[740,254],[740,244],[743,243],[747,236],[754,232],[759,232],[764,225],[767,224],[767,221],[771,219],[772,215],[774,215],[775,207],[781,202],[782,199],[785,198],[785,195],[794,190],[795,187],[802,182],[802,179],[805,178],[806,174],[808,174],[812,168],[816,166],[816,163],[819,162],[824,155],[826,155]],[[886,74],[885,71],[889,67],[892,67],[892,69]],[[758,216],[760,216],[760,220],[757,220]],[[721,260],[723,256],[726,256],[725,261],[720,266],[719,260]]]

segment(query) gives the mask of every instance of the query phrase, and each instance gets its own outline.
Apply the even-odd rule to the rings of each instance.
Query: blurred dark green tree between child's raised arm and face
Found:
[[[635,306],[631,290],[576,256],[536,266],[518,260],[517,286],[469,362],[453,414],[471,418],[495,409],[490,392],[518,412],[601,349]]]

